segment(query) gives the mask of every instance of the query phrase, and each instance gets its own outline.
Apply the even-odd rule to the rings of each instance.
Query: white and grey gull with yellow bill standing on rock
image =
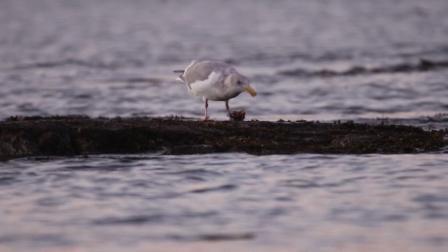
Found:
[[[237,97],[241,92],[248,92],[252,97],[257,95],[257,92],[249,85],[249,79],[225,62],[193,60],[185,70],[174,72],[181,73],[178,79],[186,83],[191,92],[204,100],[204,120],[209,120],[207,114],[209,100],[224,101],[229,115],[229,99]]]

